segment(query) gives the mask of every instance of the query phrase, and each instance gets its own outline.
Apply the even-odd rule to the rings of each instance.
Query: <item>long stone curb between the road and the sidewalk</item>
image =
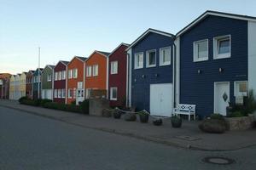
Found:
[[[206,149],[206,148],[202,148],[202,147],[198,147],[198,146],[193,146],[193,145],[184,145],[184,144],[177,144],[175,142],[170,142],[170,141],[166,141],[164,139],[157,139],[157,138],[152,138],[152,137],[147,137],[147,136],[142,136],[142,135],[137,135],[135,133],[125,133],[125,132],[121,132],[121,131],[117,131],[115,129],[111,129],[111,128],[105,128],[105,127],[90,127],[90,126],[86,126],[86,125],[81,125],[79,123],[74,123],[74,122],[69,122],[69,121],[66,121],[66,120],[63,120],[61,118],[57,118],[55,116],[48,116],[48,115],[44,115],[44,114],[40,114],[40,113],[37,113],[35,111],[26,111],[26,110],[23,110],[23,109],[20,109],[20,108],[16,108],[16,107],[12,107],[12,106],[9,106],[9,105],[1,105],[0,106],[3,106],[3,107],[6,107],[6,108],[9,108],[9,109],[14,109],[16,111],[22,111],[22,112],[26,112],[28,114],[32,114],[32,115],[35,115],[35,116],[42,116],[42,117],[45,117],[45,118],[49,118],[49,119],[52,119],[52,120],[55,120],[55,121],[60,121],[60,122],[66,122],[68,124],[72,124],[74,126],[77,126],[77,127],[84,127],[84,128],[89,128],[89,129],[93,129],[93,130],[98,130],[98,131],[101,131],[101,132],[105,132],[105,133],[113,133],[113,134],[117,134],[117,135],[122,135],[122,136],[126,136],[126,137],[131,137],[131,138],[134,138],[134,139],[142,139],[144,141],[148,141],[148,142],[154,142],[156,144],[165,144],[165,145],[168,145],[168,146],[173,146],[173,147],[177,147],[177,148],[182,148],[182,149],[187,149],[187,150],[201,150],[201,151],[234,151],[234,150],[241,150],[241,149],[245,149],[245,148],[249,148],[249,147],[253,147],[253,146],[256,146],[256,144],[247,144],[246,146],[242,146],[242,147],[239,147],[239,148],[236,148],[236,149],[230,149],[230,150],[218,150],[218,149]]]

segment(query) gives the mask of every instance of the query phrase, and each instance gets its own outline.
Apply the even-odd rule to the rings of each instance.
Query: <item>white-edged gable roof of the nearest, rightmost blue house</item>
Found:
[[[256,21],[256,17],[253,17],[253,16],[247,16],[247,15],[241,15],[241,14],[230,14],[230,13],[207,10],[204,14],[201,14],[197,19],[192,21],[188,26],[185,26],[181,31],[178,31],[176,36],[177,37],[181,36],[185,31],[188,31],[191,27],[195,26],[197,23],[201,22],[201,20],[204,20],[209,15],[220,16],[220,17],[236,19],[236,20]]]

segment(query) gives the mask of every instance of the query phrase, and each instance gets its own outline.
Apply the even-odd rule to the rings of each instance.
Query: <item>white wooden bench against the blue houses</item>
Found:
[[[188,115],[190,121],[190,115],[194,116],[195,120],[195,105],[178,104],[177,108],[173,109],[175,115]]]

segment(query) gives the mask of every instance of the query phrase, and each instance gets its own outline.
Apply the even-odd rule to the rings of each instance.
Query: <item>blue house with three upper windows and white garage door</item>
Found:
[[[174,105],[173,43],[170,33],[148,29],[127,48],[129,106],[171,116]]]

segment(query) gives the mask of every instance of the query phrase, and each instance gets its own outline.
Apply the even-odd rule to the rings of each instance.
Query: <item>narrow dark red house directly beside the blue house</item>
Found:
[[[108,55],[108,99],[110,106],[125,106],[126,65],[125,49],[129,44],[121,43]]]

